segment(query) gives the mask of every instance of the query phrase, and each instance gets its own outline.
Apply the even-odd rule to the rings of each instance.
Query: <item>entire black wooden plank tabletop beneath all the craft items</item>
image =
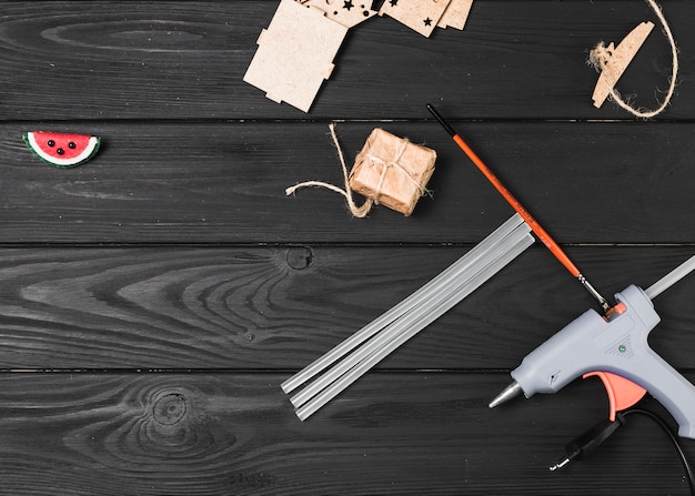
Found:
[[[476,0],[431,39],[371,19],[308,114],[242,82],[276,4],[0,3],[0,493],[687,494],[642,418],[547,469],[606,416],[596,379],[487,408],[593,305],[540,245],[308,422],[280,383],[512,214],[426,102],[603,293],[693,254],[695,3],[663,2],[681,72],[649,122],[594,109],[585,63],[658,22],[644,1]],[[620,89],[654,108],[669,74],[657,26]],[[349,158],[375,126],[434,148],[434,198],[356,220],[328,191],[285,196],[340,183],[331,120]],[[50,168],[21,140],[46,129],[103,149]],[[691,276],[659,296],[651,338],[691,379],[694,294]]]

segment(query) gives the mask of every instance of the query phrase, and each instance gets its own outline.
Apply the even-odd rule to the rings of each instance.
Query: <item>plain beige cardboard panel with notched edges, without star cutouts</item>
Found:
[[[281,0],[243,80],[278,103],[309,112],[346,34],[348,28],[323,11]]]

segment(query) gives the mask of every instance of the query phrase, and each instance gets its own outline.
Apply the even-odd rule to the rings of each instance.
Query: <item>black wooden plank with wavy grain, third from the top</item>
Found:
[[[313,362],[465,253],[461,246],[0,251],[0,368],[286,370]],[[692,247],[572,247],[607,296]],[[655,301],[651,344],[693,367],[691,275]],[[595,303],[541,246],[394,352],[386,368],[500,370]]]

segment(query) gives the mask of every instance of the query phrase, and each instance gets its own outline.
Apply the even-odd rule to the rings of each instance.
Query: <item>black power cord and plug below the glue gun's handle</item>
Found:
[[[582,435],[573,439],[570,444],[567,444],[565,448],[566,449],[565,455],[560,460],[557,460],[555,465],[550,467],[551,470],[557,470],[564,467],[565,465],[567,465],[572,460],[575,460],[575,459],[578,460],[591,455],[608,437],[615,434],[615,432],[617,432],[620,427],[625,425],[626,416],[634,415],[634,414],[643,415],[653,419],[662,428],[662,431],[664,431],[668,435],[668,438],[671,439],[674,447],[678,452],[681,463],[683,464],[683,469],[685,470],[685,477],[691,488],[691,495],[695,496],[695,476],[693,475],[693,469],[687,459],[687,456],[685,455],[685,452],[683,451],[683,447],[681,446],[681,443],[678,442],[678,438],[671,431],[671,428],[668,428],[668,426],[666,425],[664,421],[662,421],[654,413],[648,412],[646,409],[631,408],[625,412],[616,414],[615,422],[612,422],[608,419],[600,422],[598,424],[596,424],[595,426],[593,426],[592,428],[590,428],[588,431],[586,431],[585,433],[583,433]]]

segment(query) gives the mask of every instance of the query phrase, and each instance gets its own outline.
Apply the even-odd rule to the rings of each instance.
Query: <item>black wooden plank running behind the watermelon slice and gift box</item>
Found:
[[[442,111],[447,113],[447,108]],[[693,123],[459,122],[459,131],[562,243],[693,243]],[[41,125],[101,135],[90,163],[57,170],[21,141]],[[477,243],[511,207],[433,121],[344,123],[352,163],[377,125],[437,151],[411,217],[353,219],[321,122],[0,126],[0,234],[8,243]],[[31,126],[31,128],[30,128]]]

